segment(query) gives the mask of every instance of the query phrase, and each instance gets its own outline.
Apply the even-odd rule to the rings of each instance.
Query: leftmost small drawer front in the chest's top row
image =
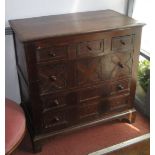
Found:
[[[38,47],[36,50],[37,62],[65,59],[68,55],[67,46]]]

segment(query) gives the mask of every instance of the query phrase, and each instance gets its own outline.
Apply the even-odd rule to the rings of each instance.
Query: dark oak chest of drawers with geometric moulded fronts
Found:
[[[50,136],[135,121],[138,23],[112,10],[11,20],[34,150]]]

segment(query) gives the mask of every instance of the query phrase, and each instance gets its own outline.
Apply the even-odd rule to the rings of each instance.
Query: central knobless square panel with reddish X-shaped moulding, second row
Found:
[[[92,85],[102,80],[101,58],[77,61],[77,84]]]

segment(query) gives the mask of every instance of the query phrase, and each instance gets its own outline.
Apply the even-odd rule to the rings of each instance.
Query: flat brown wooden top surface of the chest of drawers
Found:
[[[13,31],[23,42],[143,25],[112,10],[50,15],[9,22]]]

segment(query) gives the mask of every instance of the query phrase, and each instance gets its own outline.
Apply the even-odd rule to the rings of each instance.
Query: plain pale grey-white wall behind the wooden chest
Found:
[[[6,0],[5,4],[6,26],[10,19],[105,9],[125,14],[127,8],[127,0]],[[5,94],[20,103],[12,35],[6,35],[5,41]]]

